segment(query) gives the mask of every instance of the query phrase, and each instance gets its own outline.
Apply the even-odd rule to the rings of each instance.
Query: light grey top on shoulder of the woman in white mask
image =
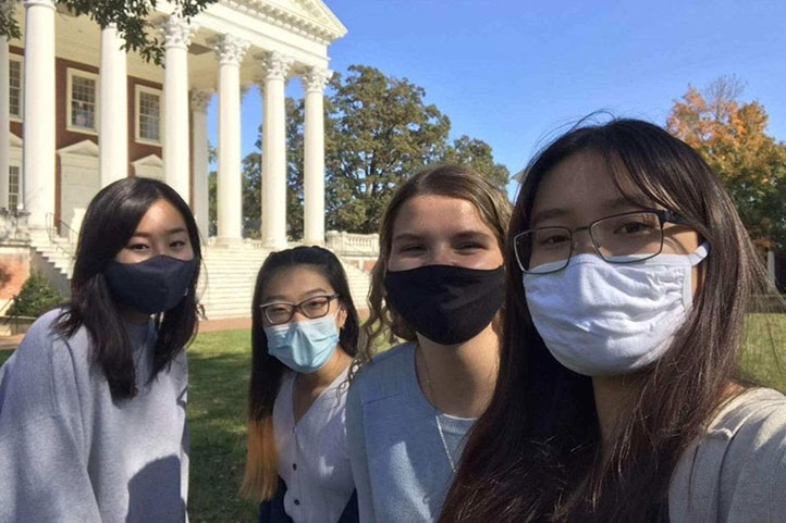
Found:
[[[786,397],[767,388],[724,406],[681,456],[668,489],[672,523],[786,521]]]

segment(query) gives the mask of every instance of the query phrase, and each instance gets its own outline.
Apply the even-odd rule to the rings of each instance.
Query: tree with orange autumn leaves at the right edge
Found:
[[[667,128],[697,149],[732,195],[753,241],[786,248],[786,145],[766,134],[769,116],[740,102],[742,85],[721,77],[703,91],[689,86],[675,100]]]

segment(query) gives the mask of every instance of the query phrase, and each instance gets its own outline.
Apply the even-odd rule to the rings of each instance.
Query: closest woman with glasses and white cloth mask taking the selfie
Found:
[[[774,289],[701,157],[640,121],[576,127],[509,237],[500,376],[440,521],[783,521],[786,397],[738,366]]]

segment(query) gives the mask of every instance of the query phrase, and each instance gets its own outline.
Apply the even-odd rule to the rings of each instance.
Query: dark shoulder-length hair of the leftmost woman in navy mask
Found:
[[[199,231],[183,198],[167,184],[150,178],[120,179],[101,189],[90,201],[79,231],[71,278],[71,300],[54,325],[56,331],[65,337],[73,336],[82,326],[87,329],[93,361],[103,371],[115,398],[136,395],[136,373],[131,341],[103,270],[125,247],[142,217],[158,200],[167,200],[183,216],[197,269],[187,296],[174,309],[156,315],[158,336],[150,379],[188,345],[198,323]]]

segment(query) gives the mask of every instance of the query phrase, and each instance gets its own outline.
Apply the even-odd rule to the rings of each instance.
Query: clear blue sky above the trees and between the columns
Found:
[[[372,65],[423,87],[426,101],[451,119],[452,137],[486,140],[511,173],[587,113],[664,124],[688,84],[702,88],[721,75],[737,75],[746,85],[741,99],[764,104],[769,133],[786,140],[783,0],[327,4],[348,29],[329,49],[331,69]],[[299,80],[291,82],[287,95],[302,94]],[[250,90],[244,155],[254,149],[260,105]]]

